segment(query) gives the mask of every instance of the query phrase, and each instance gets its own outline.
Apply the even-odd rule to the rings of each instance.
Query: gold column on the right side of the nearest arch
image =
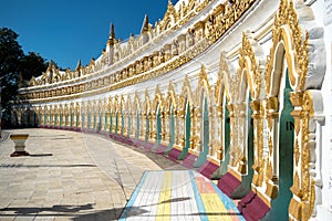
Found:
[[[292,92],[290,99],[294,106],[294,170],[293,197],[289,206],[290,220],[309,220],[315,201],[314,180],[310,175],[309,120],[313,115],[310,92]]]

